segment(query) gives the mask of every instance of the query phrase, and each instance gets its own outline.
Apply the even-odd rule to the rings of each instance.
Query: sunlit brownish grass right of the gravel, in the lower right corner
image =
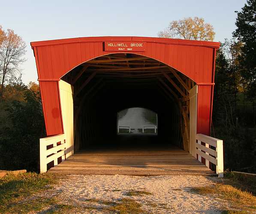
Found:
[[[239,210],[255,211],[256,197],[252,193],[242,191],[227,184],[217,184],[209,187],[194,187],[192,191],[200,194],[211,194],[226,199],[233,208]],[[225,211],[226,213],[243,213],[243,211]],[[225,213],[224,212],[224,213]]]

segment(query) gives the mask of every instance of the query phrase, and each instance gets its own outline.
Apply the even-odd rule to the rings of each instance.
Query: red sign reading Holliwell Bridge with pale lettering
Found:
[[[104,42],[104,51],[146,51],[145,42]]]

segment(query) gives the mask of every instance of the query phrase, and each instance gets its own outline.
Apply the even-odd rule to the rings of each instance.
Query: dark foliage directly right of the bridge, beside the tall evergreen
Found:
[[[226,169],[256,172],[254,110],[244,96],[247,82],[239,67],[241,47],[236,40],[226,40],[217,51],[212,135],[224,142]]]

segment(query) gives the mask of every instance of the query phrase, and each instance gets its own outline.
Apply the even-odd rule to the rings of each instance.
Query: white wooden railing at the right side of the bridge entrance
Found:
[[[210,162],[216,165],[216,173],[223,178],[223,141],[204,134],[196,134],[196,141],[198,160],[202,162],[202,158],[205,158],[208,168]],[[202,143],[205,143],[205,146]]]

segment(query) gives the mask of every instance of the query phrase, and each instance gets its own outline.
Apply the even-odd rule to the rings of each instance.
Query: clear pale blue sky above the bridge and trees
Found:
[[[84,36],[153,36],[172,20],[198,16],[213,25],[215,41],[232,37],[235,10],[246,0],[14,0],[0,4],[0,25],[27,43],[24,83],[37,80],[30,42]]]

